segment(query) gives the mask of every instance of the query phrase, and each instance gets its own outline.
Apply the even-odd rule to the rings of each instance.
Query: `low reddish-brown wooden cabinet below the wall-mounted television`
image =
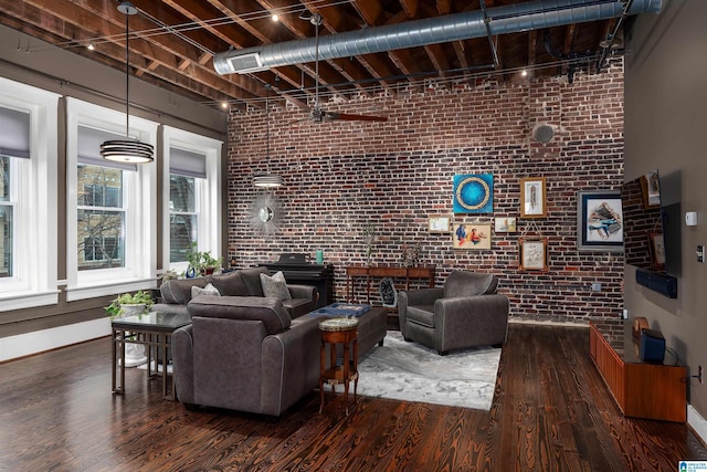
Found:
[[[610,343],[590,323],[589,354],[621,411],[627,417],[685,422],[687,369],[643,363],[636,349],[630,327]]]

